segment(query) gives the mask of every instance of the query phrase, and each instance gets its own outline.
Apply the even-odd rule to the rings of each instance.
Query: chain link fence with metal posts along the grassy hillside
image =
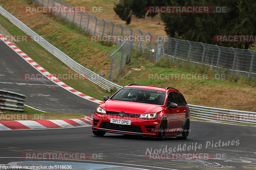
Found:
[[[34,0],[42,6],[69,6],[60,0]],[[127,26],[115,24],[88,13],[55,13],[60,18],[75,24],[78,28],[91,35],[120,35],[120,36],[150,36],[150,41],[113,42],[116,49],[109,54],[111,68],[109,80],[113,80],[131,58],[132,49],[148,55],[152,61],[160,58],[188,61],[190,63],[204,64],[216,69],[230,70],[230,74],[238,74],[247,77],[256,75],[256,51],[250,49],[236,49],[217,45],[209,45],[200,42],[192,42],[175,38],[168,38],[150,34]],[[128,56],[127,56],[128,55]]]

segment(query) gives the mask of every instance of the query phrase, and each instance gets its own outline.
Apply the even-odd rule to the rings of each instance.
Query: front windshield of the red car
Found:
[[[164,91],[126,87],[119,90],[110,99],[164,105],[165,94]]]

